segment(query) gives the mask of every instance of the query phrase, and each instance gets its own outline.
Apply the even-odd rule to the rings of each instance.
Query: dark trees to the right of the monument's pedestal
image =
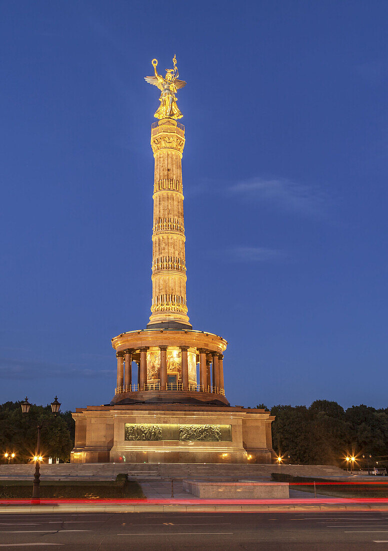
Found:
[[[286,461],[289,455],[291,463],[346,467],[344,458],[356,455],[356,467],[365,467],[362,455],[371,454],[373,464],[388,462],[388,408],[344,411],[337,402],[316,400],[310,407],[274,406],[271,415],[273,447]]]

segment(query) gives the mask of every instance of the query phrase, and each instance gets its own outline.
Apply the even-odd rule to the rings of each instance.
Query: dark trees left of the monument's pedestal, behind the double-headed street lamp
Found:
[[[22,413],[20,402],[0,405],[0,462],[6,462],[4,453],[16,454],[13,463],[28,463],[35,453],[36,427],[42,424],[41,455],[70,460],[74,447],[74,420],[70,412],[51,412],[51,406],[32,405],[29,413]]]

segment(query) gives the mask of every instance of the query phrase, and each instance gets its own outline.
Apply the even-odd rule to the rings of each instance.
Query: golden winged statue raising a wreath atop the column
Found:
[[[163,78],[162,75],[160,75],[156,71],[157,67],[157,60],[152,60],[152,65],[154,66],[155,71],[155,77],[144,77],[146,82],[149,82],[150,84],[154,84],[154,86],[157,86],[159,90],[161,90],[160,94],[160,107],[156,111],[154,117],[155,118],[182,118],[183,115],[181,111],[179,111],[177,106],[177,97],[176,93],[177,90],[180,88],[183,88],[186,83],[184,80],[179,80],[179,73],[177,68],[177,58],[176,56],[172,59],[174,68],[173,69],[166,69],[166,77]]]

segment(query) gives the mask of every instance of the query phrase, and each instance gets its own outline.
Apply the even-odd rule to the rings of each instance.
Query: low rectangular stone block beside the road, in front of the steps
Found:
[[[288,482],[210,482],[183,480],[183,489],[197,498],[260,499],[289,498]]]

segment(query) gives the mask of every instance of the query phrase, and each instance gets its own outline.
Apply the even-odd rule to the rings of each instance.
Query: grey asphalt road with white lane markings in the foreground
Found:
[[[1,549],[388,550],[388,512],[9,513]]]

